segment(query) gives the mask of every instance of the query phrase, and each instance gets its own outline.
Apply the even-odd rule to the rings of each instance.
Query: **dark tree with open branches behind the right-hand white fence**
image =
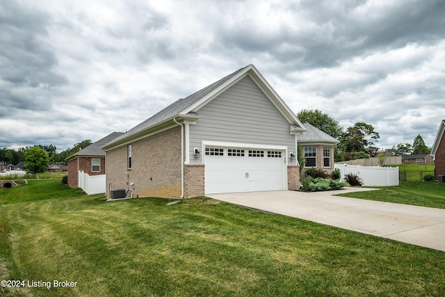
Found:
[[[372,149],[380,135],[373,125],[357,122],[343,134],[341,141],[345,152],[367,152]]]

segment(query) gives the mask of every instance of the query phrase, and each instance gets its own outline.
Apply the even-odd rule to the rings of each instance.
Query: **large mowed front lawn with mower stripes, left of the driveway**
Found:
[[[445,252],[208,198],[103,198],[0,190],[0,279],[76,282],[33,296],[445,296]]]

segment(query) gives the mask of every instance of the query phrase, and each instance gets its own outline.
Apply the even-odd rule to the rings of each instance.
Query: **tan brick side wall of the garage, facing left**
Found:
[[[133,190],[133,197],[181,196],[181,129],[174,127],[106,152],[106,197],[109,189]],[[130,184],[133,183],[133,186]],[[128,193],[128,196],[130,194]]]

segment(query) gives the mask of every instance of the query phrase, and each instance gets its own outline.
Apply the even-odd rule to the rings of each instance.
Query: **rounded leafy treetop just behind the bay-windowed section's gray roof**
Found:
[[[327,113],[322,113],[318,109],[314,111],[309,111],[303,109],[297,115],[298,119],[302,122],[309,122],[314,127],[317,127],[321,131],[329,134],[330,136],[340,140],[341,134],[343,133],[343,127],[340,126],[339,122],[334,120]]]

